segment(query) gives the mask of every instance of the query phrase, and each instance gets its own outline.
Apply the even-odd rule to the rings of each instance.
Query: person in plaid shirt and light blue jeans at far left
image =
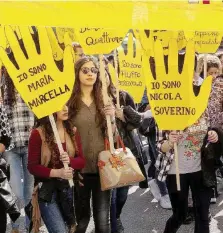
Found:
[[[9,119],[12,132],[11,145],[3,156],[10,165],[10,184],[17,197],[17,205],[21,210],[29,204],[33,191],[33,176],[27,169],[28,142],[30,131],[34,125],[34,114],[17,92],[7,70],[3,68],[3,104]],[[23,182],[22,182],[23,181]],[[12,222],[12,233],[19,232],[21,220]],[[29,228],[29,219],[25,218],[25,227]]]

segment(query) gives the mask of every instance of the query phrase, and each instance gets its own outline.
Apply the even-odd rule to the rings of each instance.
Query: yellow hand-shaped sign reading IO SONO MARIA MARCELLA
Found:
[[[74,84],[72,47],[64,50],[64,68],[60,72],[54,62],[52,49],[45,27],[38,28],[40,54],[37,53],[28,27],[20,27],[28,59],[10,26],[5,26],[5,35],[19,66],[10,61],[1,45],[0,58],[23,100],[38,118],[60,111],[70,98]]]

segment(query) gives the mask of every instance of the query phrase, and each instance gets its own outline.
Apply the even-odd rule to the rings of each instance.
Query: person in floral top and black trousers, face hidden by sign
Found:
[[[207,120],[207,118],[206,118]],[[198,123],[182,133],[176,131],[159,132],[159,180],[165,180],[171,200],[173,215],[166,223],[164,233],[175,233],[187,215],[188,191],[191,188],[195,210],[195,233],[209,233],[209,205],[211,187],[215,182],[206,175],[211,170],[214,157],[221,155],[222,132],[208,130],[208,123],[202,117]],[[208,134],[207,134],[208,131]],[[207,135],[207,136],[206,136]],[[176,171],[173,144],[178,143],[181,191],[176,187]],[[203,145],[203,146],[202,146]],[[208,160],[210,157],[210,160]],[[207,162],[208,161],[208,162]],[[208,164],[208,165],[207,165]]]

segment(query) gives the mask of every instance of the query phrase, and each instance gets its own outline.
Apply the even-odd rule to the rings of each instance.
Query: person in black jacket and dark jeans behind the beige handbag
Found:
[[[105,60],[105,65],[108,64]],[[115,115],[116,115],[116,125],[120,137],[122,138],[125,146],[127,146],[134,156],[136,157],[139,167],[142,173],[146,177],[146,171],[142,161],[142,148],[140,143],[138,143],[137,133],[134,129],[140,127],[142,122],[142,116],[136,111],[135,103],[133,98],[128,92],[119,91],[120,96],[120,107],[117,107],[116,98],[116,88],[112,83],[111,75],[109,73],[108,67],[106,67],[106,78],[108,86],[108,94],[112,97],[114,105],[116,105]],[[147,180],[140,182],[140,187],[147,188]],[[111,232],[112,233],[122,233],[124,232],[124,226],[121,221],[122,209],[126,204],[128,198],[129,186],[124,186],[112,190],[111,199]]]

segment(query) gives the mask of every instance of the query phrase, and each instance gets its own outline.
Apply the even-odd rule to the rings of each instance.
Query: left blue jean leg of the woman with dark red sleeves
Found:
[[[51,202],[39,201],[41,217],[49,233],[66,233],[66,224],[57,204],[56,193],[53,194]]]

